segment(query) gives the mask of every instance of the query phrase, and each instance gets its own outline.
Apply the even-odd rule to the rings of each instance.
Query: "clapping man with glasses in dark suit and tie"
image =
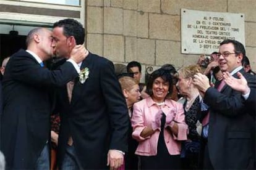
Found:
[[[228,71],[237,78],[240,71],[249,87],[256,87],[254,76],[242,68],[244,46],[234,40],[220,44],[218,62],[221,71]],[[203,127],[205,169],[254,169],[255,168],[255,121],[247,109],[241,92],[234,91],[224,81],[210,87],[205,75],[194,76],[193,83],[203,95],[203,102],[210,107],[208,125]],[[207,116],[206,116],[207,118]],[[207,129],[208,128],[208,129]]]

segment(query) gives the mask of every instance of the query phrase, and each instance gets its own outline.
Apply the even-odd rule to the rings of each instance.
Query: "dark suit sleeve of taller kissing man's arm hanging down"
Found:
[[[100,70],[101,89],[108,107],[111,126],[111,140],[109,149],[127,152],[127,134],[129,128],[129,114],[126,101],[122,95],[121,86],[114,75],[114,65],[107,61],[102,63]]]

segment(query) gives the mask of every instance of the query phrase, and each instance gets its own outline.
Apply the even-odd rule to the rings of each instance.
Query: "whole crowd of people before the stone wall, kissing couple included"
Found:
[[[2,62],[0,169],[256,168],[256,77],[243,44],[226,39],[141,83],[139,62],[114,66],[84,38],[79,22],[59,20]]]

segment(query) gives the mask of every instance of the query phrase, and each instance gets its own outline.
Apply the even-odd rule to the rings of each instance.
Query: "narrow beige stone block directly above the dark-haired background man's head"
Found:
[[[137,57],[137,38],[135,37],[126,37],[126,42],[125,42],[125,46],[126,46],[126,57],[125,57],[125,61],[127,63],[135,60],[138,61],[138,57]]]

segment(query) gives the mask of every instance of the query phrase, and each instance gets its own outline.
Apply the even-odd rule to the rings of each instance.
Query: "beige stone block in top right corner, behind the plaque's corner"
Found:
[[[243,13],[245,21],[256,22],[256,1],[232,0],[228,1],[228,12]]]

